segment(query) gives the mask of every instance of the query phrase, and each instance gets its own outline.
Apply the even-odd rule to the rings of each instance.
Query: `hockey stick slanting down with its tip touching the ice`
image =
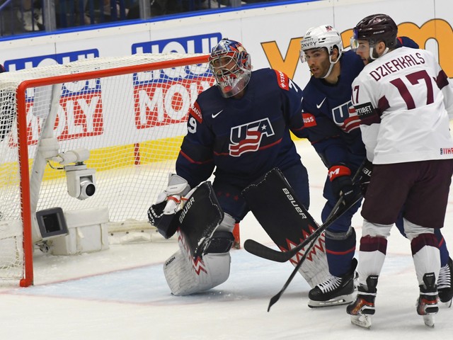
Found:
[[[365,161],[362,162],[362,164],[359,166],[359,169],[357,169],[357,171],[355,172],[354,174],[354,177],[352,178],[352,183],[355,183],[355,181],[357,180],[357,178],[360,176],[360,173],[362,172],[362,169],[363,169],[363,166],[365,165]],[[309,237],[307,237],[304,242],[302,242],[301,244],[308,244],[309,242],[311,242],[309,244],[309,246],[307,247],[307,249],[304,251],[304,255],[302,256],[302,258],[299,260],[299,262],[297,262],[297,265],[294,267],[294,270],[292,271],[291,275],[289,276],[289,278],[286,280],[285,284],[283,285],[282,289],[280,290],[280,292],[278,292],[277,294],[275,294],[273,297],[270,298],[270,301],[269,301],[269,305],[268,305],[268,312],[270,311],[270,307],[272,307],[275,302],[277,302],[278,300],[280,300],[280,297],[282,296],[283,292],[285,292],[286,288],[288,287],[289,283],[291,283],[292,279],[294,278],[294,276],[296,276],[296,273],[299,271],[299,268],[302,266],[302,263],[304,263],[305,259],[306,259],[306,256],[308,254],[310,254],[311,252],[311,249],[314,247],[314,245],[316,244],[316,240],[318,239],[319,236],[321,236],[322,232],[324,230],[326,230],[326,228],[328,227],[328,225],[331,225],[332,222],[336,221],[338,219],[338,217],[340,217],[341,215],[343,215],[346,211],[348,211],[353,205],[355,205],[355,203],[357,203],[360,199],[362,198],[362,193],[360,193],[360,195],[357,195],[355,200],[354,200],[354,203],[351,203],[350,205],[348,205],[348,207],[343,207],[343,209],[340,209],[340,205],[343,204],[343,196],[340,197],[336,203],[336,205],[333,207],[332,211],[331,211],[331,214],[327,217],[327,220],[326,222],[324,222],[323,225],[321,225],[321,227],[319,227],[318,229],[316,229],[316,231],[311,234]],[[327,222],[330,223],[328,225]],[[315,235],[316,236],[313,236]],[[299,246],[301,245],[299,244]],[[302,249],[303,247],[301,247],[300,249]],[[295,249],[295,248],[294,248]],[[294,250],[292,249],[292,250]],[[300,250],[299,249],[299,250]],[[285,253],[283,253],[285,254]],[[292,256],[291,256],[292,257]],[[291,257],[289,259],[291,259]]]

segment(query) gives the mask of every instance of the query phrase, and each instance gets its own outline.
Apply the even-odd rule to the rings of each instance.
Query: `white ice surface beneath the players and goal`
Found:
[[[326,170],[306,142],[297,142],[309,170],[310,212],[320,220]],[[453,249],[453,195],[442,230]],[[427,212],[429,213],[429,212]],[[282,220],[284,217],[282,217]],[[357,242],[361,217],[353,226]],[[253,215],[241,222],[241,241],[271,244]],[[309,285],[297,275],[267,312],[270,297],[293,266],[231,251],[229,280],[207,293],[172,296],[162,264],[178,248],[173,241],[113,244],[93,254],[35,254],[35,285],[0,283],[0,339],[450,339],[453,308],[441,305],[435,328],[415,312],[418,285],[410,245],[392,229],[379,277],[372,329],[350,324],[345,306],[310,309]],[[453,250],[452,250],[453,251]]]

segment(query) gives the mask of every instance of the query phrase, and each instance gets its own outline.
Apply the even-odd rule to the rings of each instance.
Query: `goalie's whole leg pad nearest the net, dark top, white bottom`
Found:
[[[164,263],[173,295],[200,293],[229,277],[234,218],[220,208],[210,182],[197,186],[173,217],[179,250]]]

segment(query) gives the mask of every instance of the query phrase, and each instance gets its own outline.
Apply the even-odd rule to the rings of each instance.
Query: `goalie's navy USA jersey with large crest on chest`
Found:
[[[217,181],[245,187],[275,167],[300,164],[289,130],[302,128],[302,89],[274,69],[253,71],[242,98],[224,98],[216,86],[198,96],[176,172],[194,187],[215,167]]]

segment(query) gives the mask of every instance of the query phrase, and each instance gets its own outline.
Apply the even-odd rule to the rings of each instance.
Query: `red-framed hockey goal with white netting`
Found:
[[[188,110],[212,84],[207,55],[176,53],[0,74],[0,278],[33,284],[40,210],[107,208],[109,232],[151,228],[147,210],[174,171]],[[49,140],[57,153],[89,150],[93,196],[69,195]]]

